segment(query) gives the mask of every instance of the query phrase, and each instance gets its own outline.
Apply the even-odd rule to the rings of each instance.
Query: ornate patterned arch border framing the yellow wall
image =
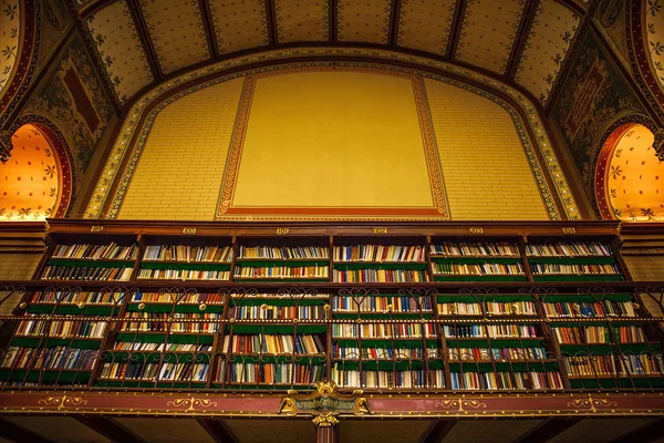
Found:
[[[284,63],[308,63],[317,60],[324,60],[330,63],[339,61],[345,64],[380,63],[394,65],[397,69],[414,70],[424,76],[444,79],[444,81],[452,84],[458,84],[459,87],[474,87],[478,91],[477,93],[486,94],[490,100],[497,101],[508,112],[511,110],[510,114],[515,120],[515,124],[519,132],[523,134],[521,138],[526,145],[525,147],[531,153],[528,155],[536,156],[537,159],[535,157],[532,159],[541,164],[541,168],[537,172],[533,171],[533,173],[538,182],[547,182],[546,186],[552,189],[551,198],[546,202],[547,206],[558,207],[559,209],[553,209],[553,212],[558,212],[560,219],[580,218],[574,196],[558,163],[537,105],[523,93],[471,69],[443,61],[434,61],[425,56],[406,55],[378,49],[320,47],[274,50],[218,62],[163,82],[138,97],[128,110],[125,121],[120,127],[120,135],[110,150],[108,159],[95,185],[84,217],[113,218],[113,214],[117,212],[117,199],[114,196],[118,189],[121,192],[126,189],[131,182],[131,174],[127,175],[123,172],[134,167],[137,163],[138,157],[134,155],[134,146],[137,143],[143,143],[147,137],[149,124],[145,124],[145,121],[154,109],[178,94],[185,94],[186,91],[205,87],[206,82],[241,76],[250,70],[269,69],[269,66]],[[532,146],[527,144],[532,144]],[[556,217],[552,218],[556,219]]]

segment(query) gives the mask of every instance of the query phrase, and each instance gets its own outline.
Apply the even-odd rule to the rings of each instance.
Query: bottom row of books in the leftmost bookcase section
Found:
[[[0,362],[2,368],[63,369],[90,371],[98,351],[69,347],[21,348],[9,347]]]

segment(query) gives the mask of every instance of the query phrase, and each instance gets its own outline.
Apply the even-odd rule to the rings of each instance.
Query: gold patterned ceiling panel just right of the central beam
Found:
[[[339,41],[387,44],[391,9],[391,0],[339,0]]]

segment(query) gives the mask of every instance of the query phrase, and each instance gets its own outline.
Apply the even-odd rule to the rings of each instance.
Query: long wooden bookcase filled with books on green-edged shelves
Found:
[[[50,220],[1,389],[664,388],[615,223]]]

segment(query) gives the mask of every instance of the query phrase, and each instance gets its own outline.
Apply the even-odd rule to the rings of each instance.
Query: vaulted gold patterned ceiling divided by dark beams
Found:
[[[76,0],[121,103],[191,66],[292,45],[363,45],[476,68],[547,105],[582,0]]]

